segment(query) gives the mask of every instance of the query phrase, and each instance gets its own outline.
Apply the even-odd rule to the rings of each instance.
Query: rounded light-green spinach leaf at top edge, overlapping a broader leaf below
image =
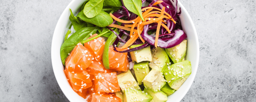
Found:
[[[84,5],[83,13],[88,18],[98,15],[103,7],[104,0],[90,0]]]

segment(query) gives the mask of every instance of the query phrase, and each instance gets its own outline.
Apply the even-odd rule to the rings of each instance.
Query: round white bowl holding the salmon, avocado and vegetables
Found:
[[[69,21],[70,11],[69,8],[74,12],[80,8],[80,6],[86,0],[73,0],[69,5],[65,8],[63,13],[60,16],[60,19],[56,25],[53,37],[52,37],[52,45],[51,45],[51,60],[52,60],[52,68],[56,77],[56,80],[65,94],[65,96],[71,102],[80,102],[85,101],[84,98],[80,97],[76,92],[74,92],[69,85],[67,78],[63,72],[63,65],[60,58],[60,47],[63,43],[63,39],[68,30],[71,22]],[[185,56],[186,60],[189,60],[192,65],[192,73],[188,77],[188,79],[183,83],[183,85],[179,88],[179,90],[175,91],[172,95],[168,96],[167,102],[179,102],[188,92],[191,84],[194,81],[198,61],[199,61],[199,43],[198,37],[196,33],[196,29],[192,19],[190,18],[187,10],[184,6],[178,1],[178,8],[181,8],[182,12],[180,17],[183,31],[187,34],[187,55]]]

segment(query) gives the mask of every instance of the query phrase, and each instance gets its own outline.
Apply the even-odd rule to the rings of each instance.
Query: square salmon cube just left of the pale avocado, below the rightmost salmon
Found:
[[[120,91],[116,72],[95,74],[94,88],[96,92],[113,93]]]

